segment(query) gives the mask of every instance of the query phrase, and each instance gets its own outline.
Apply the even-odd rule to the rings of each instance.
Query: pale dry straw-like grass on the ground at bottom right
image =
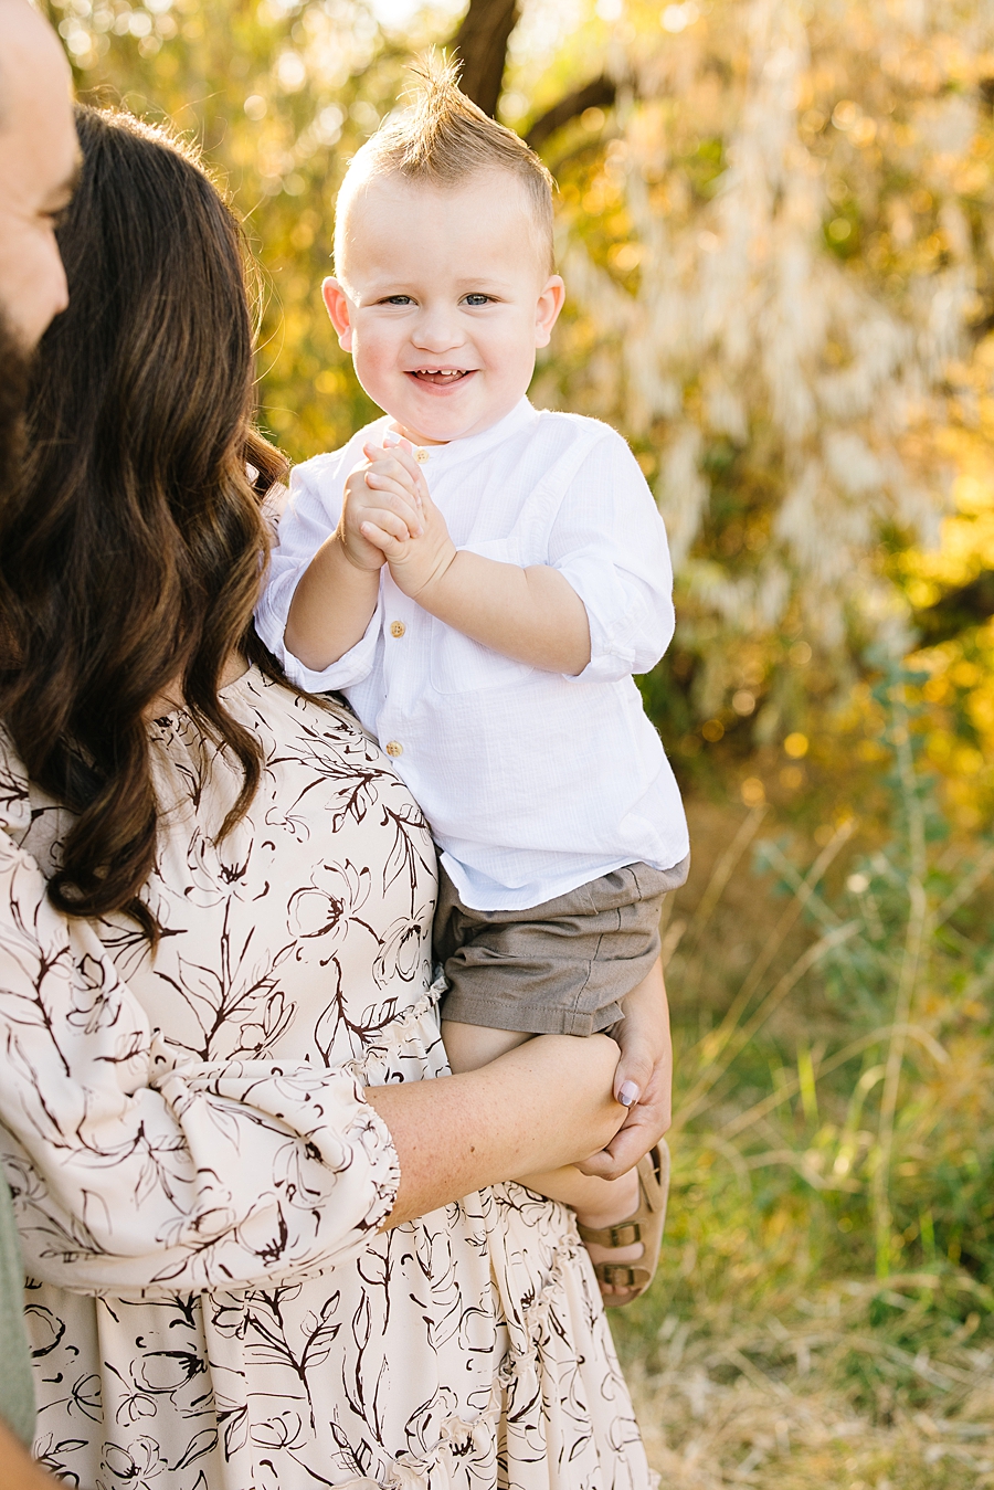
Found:
[[[885,1293],[903,1305],[922,1281],[890,1278]],[[952,1338],[912,1354],[867,1328],[867,1302],[879,1296],[878,1280],[849,1281],[787,1323],[767,1314],[751,1328],[723,1320],[720,1308],[693,1322],[668,1314],[654,1369],[626,1350],[650,1463],[666,1490],[993,1486],[994,1348]],[[976,1316],[970,1323],[976,1329]],[[860,1363],[869,1371],[854,1383]],[[848,1386],[833,1384],[846,1377]],[[876,1402],[860,1410],[854,1396],[873,1377]]]

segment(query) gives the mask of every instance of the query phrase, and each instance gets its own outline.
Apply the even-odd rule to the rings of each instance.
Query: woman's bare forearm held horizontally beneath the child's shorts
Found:
[[[602,1149],[627,1116],[611,1089],[617,1056],[607,1036],[538,1036],[478,1071],[370,1088],[401,1162],[383,1228]]]

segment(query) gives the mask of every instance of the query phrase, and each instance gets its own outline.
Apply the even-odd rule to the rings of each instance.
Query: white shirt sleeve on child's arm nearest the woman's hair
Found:
[[[346,447],[347,450],[352,446]],[[306,668],[283,641],[294,590],[307,565],[325,539],[334,533],[341,516],[341,490],[349,460],[343,451],[320,456],[297,466],[291,477],[289,499],[279,523],[279,542],[270,559],[262,597],[255,612],[259,636],[298,688],[331,693],[362,682],[373,672],[380,635],[382,600],[377,600],[365,635],[331,668],[314,672]]]

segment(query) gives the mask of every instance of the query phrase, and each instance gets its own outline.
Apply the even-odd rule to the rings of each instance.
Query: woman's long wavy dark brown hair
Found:
[[[70,307],[39,347],[25,474],[0,502],[0,718],[28,776],[73,812],[52,903],[124,910],[155,942],[148,711],[179,690],[240,763],[227,833],[261,748],[219,685],[231,654],[253,650],[261,498],[285,462],[250,423],[234,215],[164,131],[85,107],[76,127],[82,179],[58,231]]]

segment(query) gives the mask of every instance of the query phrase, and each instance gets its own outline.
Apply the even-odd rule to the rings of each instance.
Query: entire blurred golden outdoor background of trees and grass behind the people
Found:
[[[694,834],[677,1191],[618,1320],[653,1453],[694,1487],[994,1483],[990,4],[48,6],[80,94],[234,195],[294,459],[373,414],[317,291],[410,57],[453,45],[542,152],[569,302],[534,396],[626,434],[677,569],[642,679]]]

